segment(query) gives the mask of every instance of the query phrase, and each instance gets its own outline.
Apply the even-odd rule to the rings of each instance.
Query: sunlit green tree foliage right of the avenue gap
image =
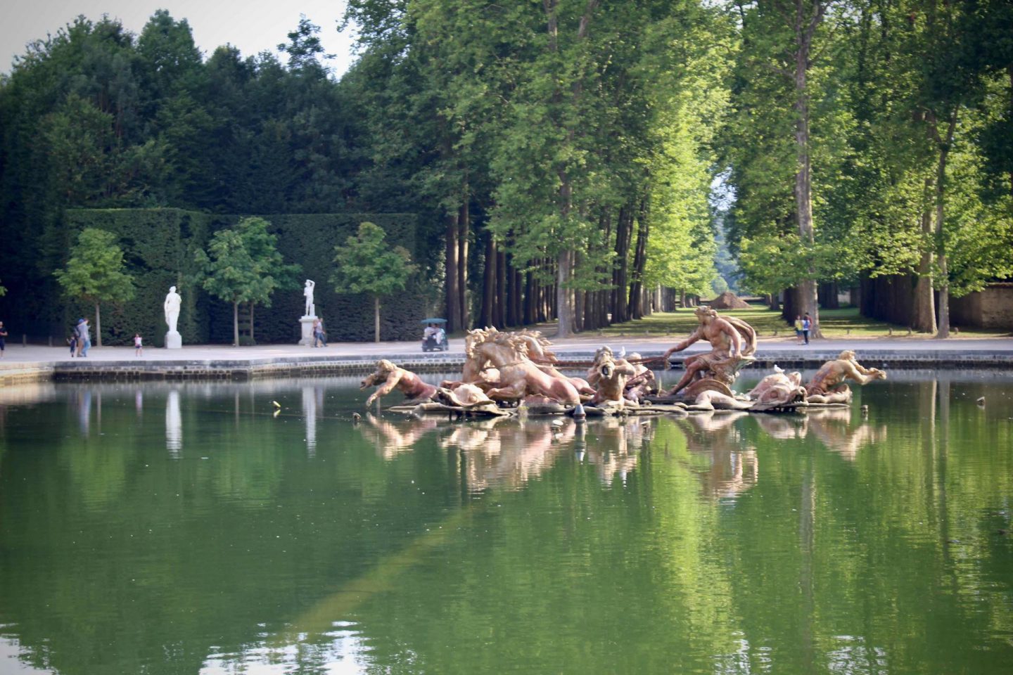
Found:
[[[916,274],[910,322],[934,332],[946,298],[1013,274],[1013,25],[1009,3],[824,2],[804,94],[814,237],[798,235],[791,162],[796,3],[741,5],[742,58],[722,146],[731,240],[747,285]],[[808,11],[808,9],[806,9]],[[1005,167],[1005,170],[999,167]],[[996,189],[1002,181],[1004,189]]]

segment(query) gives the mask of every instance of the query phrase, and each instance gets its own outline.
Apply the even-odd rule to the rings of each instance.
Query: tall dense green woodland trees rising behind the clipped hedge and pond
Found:
[[[190,261],[209,224],[265,215],[320,279],[348,233],[287,241],[287,219],[370,214],[352,230],[380,225],[434,289],[388,304],[392,337],[416,310],[599,328],[710,294],[717,267],[813,312],[817,284],[914,275],[910,323],[945,334],[950,296],[1013,274],[1003,0],[352,0],[346,18],[360,58],[339,80],[305,17],[282,59],[205,58],[164,10],[138,35],[81,17],[29,46],[0,79],[0,313],[63,321],[53,271],[81,208],[186,209],[197,236],[170,216],[153,238]],[[410,245],[380,213],[414,214]],[[164,293],[148,271],[139,292]],[[353,324],[369,305],[318,303]],[[206,309],[184,339],[226,339]],[[293,337],[263,314],[265,340]]]

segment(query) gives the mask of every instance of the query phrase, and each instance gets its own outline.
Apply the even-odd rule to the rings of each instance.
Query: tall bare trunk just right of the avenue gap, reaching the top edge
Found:
[[[811,6],[811,15],[806,9]],[[823,20],[827,5],[824,0],[795,0],[795,218],[798,236],[804,245],[814,242],[812,226],[812,166],[809,154],[809,95],[807,78],[812,51],[812,36]],[[809,268],[799,280],[798,310],[812,319],[812,337],[823,337],[820,331],[820,309],[816,303],[816,271]]]

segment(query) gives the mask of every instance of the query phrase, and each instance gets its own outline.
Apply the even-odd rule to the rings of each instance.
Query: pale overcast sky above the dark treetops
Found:
[[[134,33],[140,33],[156,9],[167,9],[177,21],[186,19],[193,41],[207,59],[216,47],[230,43],[244,57],[269,50],[277,54],[280,43],[306,14],[320,26],[320,39],[335,58],[328,65],[340,75],[352,64],[350,30],[337,32],[337,21],[345,0],[300,0],[287,2],[238,2],[237,0],[13,0],[7,2],[0,20],[0,72],[10,72],[14,56],[24,46],[55,34],[78,14],[97,20],[102,14],[119,18]]]

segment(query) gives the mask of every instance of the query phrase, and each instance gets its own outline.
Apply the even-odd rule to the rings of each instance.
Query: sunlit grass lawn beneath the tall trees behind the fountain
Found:
[[[726,314],[749,323],[757,330],[760,337],[794,336],[794,328],[785,324],[781,319],[780,312],[772,312],[766,306],[757,305],[749,310],[719,310],[720,314]],[[859,337],[873,338],[886,337],[890,334],[894,337],[908,335],[907,326],[888,324],[875,319],[868,319],[859,316],[858,308],[844,308],[840,310],[820,310],[820,324],[823,328],[824,337],[844,338]],[[676,310],[675,312],[660,312],[643,319],[629,321],[625,324],[616,324],[602,330],[603,335],[689,335],[696,330],[699,323],[693,315],[693,310]],[[775,333],[776,332],[776,333]],[[1008,337],[1010,334],[1005,331],[988,330],[981,328],[960,329],[958,334],[951,332],[951,337],[987,338],[987,337]],[[927,335],[915,334],[912,337],[929,337]]]

